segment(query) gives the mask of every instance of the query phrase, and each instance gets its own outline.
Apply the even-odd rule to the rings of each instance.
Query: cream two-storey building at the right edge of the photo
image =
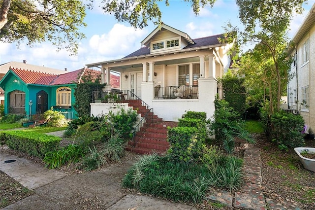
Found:
[[[293,58],[287,85],[287,105],[303,116],[306,125],[315,131],[315,4],[293,36],[294,47],[287,52]]]

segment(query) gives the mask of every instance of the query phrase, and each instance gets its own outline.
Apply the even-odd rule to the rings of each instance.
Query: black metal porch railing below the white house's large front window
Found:
[[[154,99],[198,99],[198,86],[155,87]]]

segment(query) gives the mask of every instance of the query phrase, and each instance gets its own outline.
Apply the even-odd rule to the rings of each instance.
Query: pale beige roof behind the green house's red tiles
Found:
[[[0,65],[0,73],[5,74],[10,68],[25,69],[25,70],[29,69],[29,70],[41,71],[41,72],[53,73],[53,74],[63,74],[67,72],[65,70],[58,70],[58,69],[53,69],[53,68],[48,68],[48,67],[41,67],[41,66],[36,66],[32,64],[11,61],[11,62]]]

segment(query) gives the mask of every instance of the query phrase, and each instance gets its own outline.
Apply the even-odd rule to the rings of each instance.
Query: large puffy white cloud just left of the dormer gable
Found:
[[[144,30],[115,24],[107,34],[93,35],[89,40],[89,46],[91,50],[96,50],[104,56],[126,55],[140,48],[140,38],[146,33]]]

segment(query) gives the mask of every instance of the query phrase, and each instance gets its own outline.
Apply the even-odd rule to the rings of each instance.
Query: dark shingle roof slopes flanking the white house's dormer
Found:
[[[224,37],[223,34],[220,34],[220,35],[212,35],[212,36],[207,36],[207,37],[202,37],[202,38],[196,38],[196,39],[193,39],[193,41],[195,42],[194,44],[189,44],[183,49],[217,45],[217,44],[220,44],[218,38],[223,38],[223,37]],[[137,51],[134,51],[133,53],[127,55],[124,58],[143,56],[143,55],[150,55],[150,48],[141,47]]]

